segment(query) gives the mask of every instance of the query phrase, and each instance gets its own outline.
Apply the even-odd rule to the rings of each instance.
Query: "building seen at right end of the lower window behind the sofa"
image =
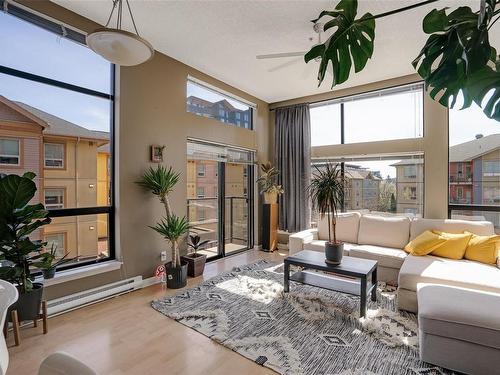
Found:
[[[396,168],[396,211],[424,214],[424,161],[407,159],[391,164]]]

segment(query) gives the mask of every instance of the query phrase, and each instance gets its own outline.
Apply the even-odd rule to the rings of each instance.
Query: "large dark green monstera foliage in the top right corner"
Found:
[[[497,59],[488,37],[496,4],[495,0],[483,0],[480,12],[469,7],[459,7],[449,14],[448,8],[434,9],[424,18],[423,29],[430,37],[412,64],[425,80],[429,95],[443,106],[453,108],[460,94],[462,108],[473,101],[481,106],[486,94],[498,87],[498,70],[488,66]],[[497,90],[484,111],[500,120],[498,103],[495,105],[498,95]]]

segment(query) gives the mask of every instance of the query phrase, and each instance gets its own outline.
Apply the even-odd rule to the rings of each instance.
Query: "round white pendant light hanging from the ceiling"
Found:
[[[108,22],[87,35],[87,45],[92,51],[101,55],[113,64],[122,66],[139,65],[153,58],[154,48],[145,39],[139,36],[134,16],[130,9],[129,0],[125,0],[135,33],[122,30],[123,1],[113,0],[113,9]],[[116,28],[108,27],[113,14],[116,12]]]

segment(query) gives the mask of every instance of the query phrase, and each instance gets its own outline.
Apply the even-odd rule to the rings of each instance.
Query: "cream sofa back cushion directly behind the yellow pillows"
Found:
[[[493,224],[489,221],[468,221],[450,219],[414,219],[410,225],[410,240],[426,230],[440,230],[448,233],[468,231],[480,236],[495,234]]]

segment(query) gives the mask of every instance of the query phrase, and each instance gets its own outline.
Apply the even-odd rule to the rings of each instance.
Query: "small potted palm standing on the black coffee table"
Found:
[[[327,163],[324,168],[315,166],[309,194],[313,208],[328,221],[328,242],[325,243],[326,262],[340,264],[344,244],[337,240],[337,216],[344,202],[345,177],[338,164]]]

